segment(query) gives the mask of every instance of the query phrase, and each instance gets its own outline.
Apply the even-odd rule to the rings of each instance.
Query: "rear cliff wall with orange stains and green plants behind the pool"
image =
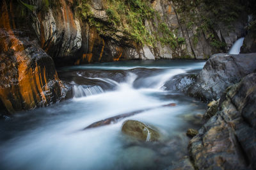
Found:
[[[209,58],[246,35],[253,2],[207,0],[6,1],[57,65]],[[11,8],[11,7],[10,7]],[[15,23],[20,25],[18,17]],[[19,17],[20,18],[20,17]]]

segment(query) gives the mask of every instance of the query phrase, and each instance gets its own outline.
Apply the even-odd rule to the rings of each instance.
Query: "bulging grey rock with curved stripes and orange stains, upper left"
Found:
[[[32,26],[42,49],[56,64],[75,61],[74,56],[82,47],[82,27],[75,17],[73,1],[52,1],[51,8],[40,0],[33,1],[32,4],[35,6],[31,14]]]

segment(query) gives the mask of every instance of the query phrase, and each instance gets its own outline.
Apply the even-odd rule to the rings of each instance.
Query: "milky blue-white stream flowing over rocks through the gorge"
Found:
[[[205,104],[166,90],[175,75],[198,73],[203,61],[130,61],[60,68],[69,100],[0,120],[0,169],[166,169],[188,155],[188,128]],[[175,103],[174,107],[161,107]],[[152,109],[148,109],[152,108]],[[95,121],[145,109],[103,127]],[[125,120],[155,127],[159,141],[122,134]]]

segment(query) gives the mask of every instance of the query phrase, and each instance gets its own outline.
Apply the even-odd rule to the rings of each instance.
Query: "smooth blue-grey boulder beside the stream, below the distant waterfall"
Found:
[[[203,101],[216,100],[228,86],[255,72],[256,54],[215,54],[205,63],[188,94]]]

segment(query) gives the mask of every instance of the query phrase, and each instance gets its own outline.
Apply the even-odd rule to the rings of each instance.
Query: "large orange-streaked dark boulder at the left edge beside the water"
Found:
[[[42,107],[61,100],[65,88],[58,79],[52,58],[23,31],[13,29],[4,1],[1,2],[0,27],[1,113]]]

